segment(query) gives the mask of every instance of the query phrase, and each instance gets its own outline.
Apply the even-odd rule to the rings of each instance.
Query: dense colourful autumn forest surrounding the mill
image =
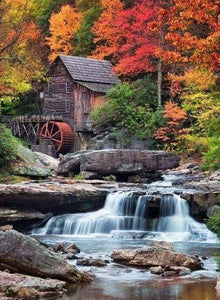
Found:
[[[219,0],[1,0],[1,114],[40,113],[58,54],[107,59],[121,82],[95,124],[217,169],[218,16]]]

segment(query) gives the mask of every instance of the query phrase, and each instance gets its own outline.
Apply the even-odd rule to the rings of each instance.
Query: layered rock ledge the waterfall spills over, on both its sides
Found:
[[[193,175],[195,180],[195,175]],[[184,178],[184,177],[177,177]],[[199,176],[197,174],[197,180]],[[191,214],[203,219],[211,216],[213,207],[220,205],[216,177],[191,181],[189,174],[174,187],[191,186],[191,189],[178,190],[181,197],[189,202]],[[213,188],[212,182],[215,187]],[[200,183],[198,186],[197,184]],[[193,188],[194,186],[194,188]],[[192,189],[193,188],[193,189]],[[149,185],[145,183],[120,183],[103,180],[74,180],[56,177],[50,181],[27,181],[18,184],[0,184],[0,225],[12,224],[16,229],[25,231],[34,225],[42,224],[52,215],[95,211],[103,207],[109,192],[118,190],[136,191],[136,201],[145,195]],[[148,196],[148,209],[151,217],[159,214],[163,194],[156,192]]]

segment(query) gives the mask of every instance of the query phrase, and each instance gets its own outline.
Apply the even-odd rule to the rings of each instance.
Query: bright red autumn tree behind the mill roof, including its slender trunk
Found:
[[[117,72],[129,77],[158,72],[160,106],[162,59],[159,50],[164,47],[166,34],[163,1],[136,1],[132,5],[126,3],[128,9],[123,9],[119,1],[118,6],[113,7],[110,1],[103,4],[103,13],[93,29],[97,43],[93,56],[111,58]]]

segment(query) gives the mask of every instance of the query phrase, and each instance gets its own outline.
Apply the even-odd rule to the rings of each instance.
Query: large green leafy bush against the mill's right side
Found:
[[[96,125],[117,126],[128,136],[145,139],[163,123],[162,112],[155,111],[156,86],[150,77],[118,84],[106,98],[106,104],[92,114]]]

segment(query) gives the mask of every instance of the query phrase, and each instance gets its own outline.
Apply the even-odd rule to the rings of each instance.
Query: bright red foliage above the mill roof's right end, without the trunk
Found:
[[[111,22],[106,22],[107,12]],[[127,10],[120,5],[117,10],[104,9],[93,28],[98,42],[93,57],[111,56],[121,74],[154,71],[158,42],[149,25],[157,18],[157,13],[158,7],[150,0],[138,2]]]

